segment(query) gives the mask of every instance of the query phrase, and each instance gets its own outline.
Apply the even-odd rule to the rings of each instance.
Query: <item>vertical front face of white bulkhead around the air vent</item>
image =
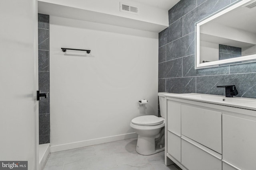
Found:
[[[99,12],[114,16],[121,16],[124,18],[131,18],[135,20],[146,21],[150,23],[158,23],[161,25],[169,25],[168,23],[168,10],[155,8],[146,4],[140,4],[131,0],[39,0],[40,2],[47,2]],[[139,15],[128,14],[120,12],[120,2],[130,4],[139,8]]]

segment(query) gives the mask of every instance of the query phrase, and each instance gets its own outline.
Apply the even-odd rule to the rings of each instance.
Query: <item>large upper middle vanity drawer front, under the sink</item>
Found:
[[[182,135],[222,153],[222,113],[210,109],[181,106]]]

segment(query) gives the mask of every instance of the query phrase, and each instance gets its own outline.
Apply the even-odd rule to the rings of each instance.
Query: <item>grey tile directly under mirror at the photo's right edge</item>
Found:
[[[256,63],[230,65],[230,74],[256,72]]]

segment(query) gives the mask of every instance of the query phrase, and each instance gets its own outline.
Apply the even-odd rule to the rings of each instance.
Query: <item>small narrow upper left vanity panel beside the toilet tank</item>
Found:
[[[181,136],[180,104],[167,100],[167,121],[168,131]]]

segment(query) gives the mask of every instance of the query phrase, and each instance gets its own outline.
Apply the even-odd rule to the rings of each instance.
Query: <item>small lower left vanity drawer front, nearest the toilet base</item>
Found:
[[[168,154],[181,162],[181,139],[177,135],[168,131]]]

